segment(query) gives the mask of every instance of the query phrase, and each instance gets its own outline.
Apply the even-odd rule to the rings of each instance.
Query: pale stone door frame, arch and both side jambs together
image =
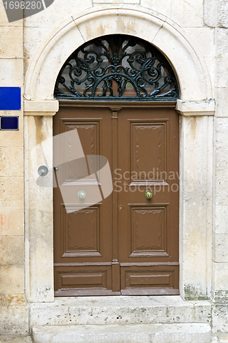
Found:
[[[146,12],[147,11],[147,12]],[[92,29],[91,29],[92,27]],[[148,34],[148,32],[150,34]],[[43,41],[25,80],[25,292],[29,302],[53,302],[53,191],[36,185],[31,150],[51,138],[58,111],[53,89],[62,64],[97,36],[129,34],[153,43],[179,80],[179,287],[182,298],[209,298],[212,287],[213,100],[203,57],[180,27],[134,5],[103,6],[71,16]],[[52,166],[52,146],[46,152]]]

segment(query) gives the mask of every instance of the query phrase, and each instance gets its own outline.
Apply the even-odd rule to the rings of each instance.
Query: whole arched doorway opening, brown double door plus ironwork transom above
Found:
[[[55,97],[53,134],[76,129],[87,156],[79,166],[71,142],[55,147],[54,164],[68,154],[55,176],[76,193],[99,187],[102,197],[94,204],[84,191],[88,200],[66,204],[54,189],[55,296],[179,294],[178,86],[170,64],[144,40],[103,36],[66,60]],[[100,155],[112,171],[107,197],[90,178],[88,158]]]

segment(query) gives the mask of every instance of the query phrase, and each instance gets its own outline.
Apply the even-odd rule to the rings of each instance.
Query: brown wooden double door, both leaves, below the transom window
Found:
[[[53,189],[55,296],[179,294],[179,116],[167,104],[111,105],[61,106],[54,117],[54,135],[77,129],[85,156],[105,156],[113,178],[110,196],[70,213]],[[73,149],[55,147],[54,160]],[[76,191],[91,185],[65,169]]]

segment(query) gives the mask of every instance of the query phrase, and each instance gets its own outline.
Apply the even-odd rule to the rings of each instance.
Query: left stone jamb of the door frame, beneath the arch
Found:
[[[25,150],[25,294],[31,302],[53,301],[53,191],[36,185],[31,161],[31,150],[52,137],[52,117],[27,116],[24,130],[29,142]],[[52,165],[52,145],[45,157]],[[37,166],[45,164],[42,156],[37,159]]]

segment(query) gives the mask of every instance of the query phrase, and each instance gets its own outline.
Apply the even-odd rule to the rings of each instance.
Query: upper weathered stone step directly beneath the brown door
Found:
[[[180,296],[84,296],[31,304],[31,327],[71,324],[210,323],[207,300]]]

